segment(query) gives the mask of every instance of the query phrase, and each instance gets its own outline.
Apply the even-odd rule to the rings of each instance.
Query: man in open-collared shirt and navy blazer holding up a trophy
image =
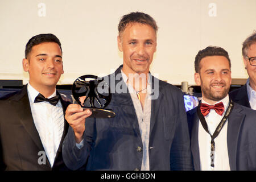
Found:
[[[88,170],[192,169],[183,93],[149,72],[156,51],[155,20],[130,13],[118,30],[123,65],[104,78],[113,93],[106,109],[116,115],[87,118],[91,111],[69,105],[65,164],[77,169],[86,163]]]

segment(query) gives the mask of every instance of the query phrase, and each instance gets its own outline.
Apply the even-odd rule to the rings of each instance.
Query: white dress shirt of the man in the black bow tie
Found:
[[[56,106],[45,101],[34,103],[35,97],[38,96],[39,92],[30,84],[27,86],[27,92],[36,130],[38,130],[44,151],[52,167],[64,131],[64,116],[61,102],[59,101]],[[56,90],[48,98],[54,96],[56,96]]]

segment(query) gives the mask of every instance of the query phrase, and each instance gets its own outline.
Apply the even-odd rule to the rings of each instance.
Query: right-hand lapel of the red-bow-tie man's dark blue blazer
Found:
[[[229,164],[232,171],[236,171],[236,159],[237,159],[237,144],[240,135],[241,126],[243,120],[245,119],[245,114],[240,113],[242,110],[236,103],[234,103],[234,108],[232,113],[228,118],[228,154],[229,154]]]

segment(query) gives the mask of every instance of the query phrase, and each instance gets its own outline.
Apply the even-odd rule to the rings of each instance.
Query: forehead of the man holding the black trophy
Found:
[[[121,33],[121,37],[133,39],[156,39],[156,32],[154,28],[148,24],[129,23],[125,30]]]

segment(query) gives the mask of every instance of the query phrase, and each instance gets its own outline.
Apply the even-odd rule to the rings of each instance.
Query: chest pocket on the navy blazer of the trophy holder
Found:
[[[167,118],[163,117],[164,138],[166,140],[171,140],[172,138],[174,138],[175,123],[176,115]]]

